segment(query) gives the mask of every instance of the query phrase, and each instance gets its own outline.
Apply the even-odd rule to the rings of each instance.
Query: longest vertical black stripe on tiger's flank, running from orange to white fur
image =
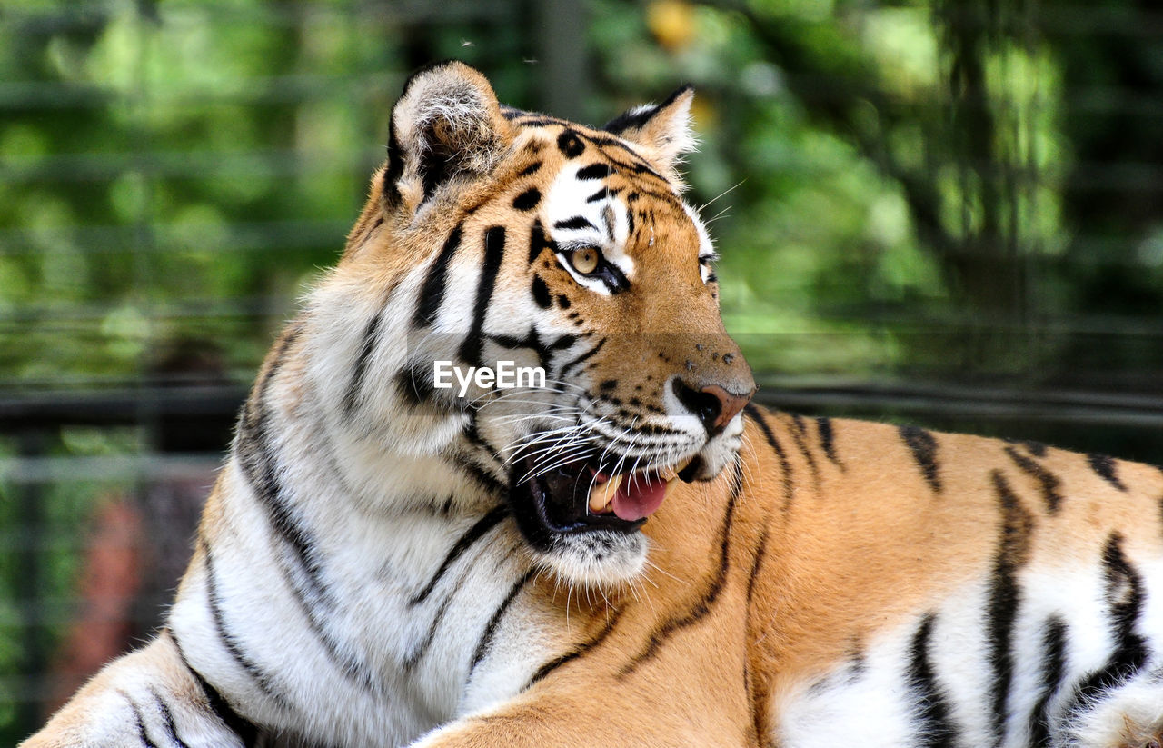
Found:
[[[986,607],[990,667],[993,670],[993,733],[997,745],[1005,738],[1009,689],[1013,686],[1013,629],[1021,604],[1018,571],[1029,561],[1034,520],[1009,489],[1000,471],[990,473],[1001,513],[1001,535],[993,560],[990,600]]]

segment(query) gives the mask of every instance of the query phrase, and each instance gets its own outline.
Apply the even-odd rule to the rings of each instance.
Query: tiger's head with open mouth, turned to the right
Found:
[[[445,511],[502,497],[569,582],[642,570],[638,528],[734,460],[755,391],[680,197],[692,99],[591,129],[501,107],[461,63],[416,73],[315,295],[334,323],[316,378],[361,460],[413,461],[385,479]]]

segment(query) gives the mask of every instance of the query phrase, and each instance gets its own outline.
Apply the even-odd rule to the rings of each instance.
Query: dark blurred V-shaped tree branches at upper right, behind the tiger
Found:
[[[1001,215],[1016,185],[1014,170],[997,149],[997,122],[985,81],[985,55],[1001,28],[989,22],[992,0],[944,1],[933,9],[949,57],[948,108],[887,92],[866,52],[846,38],[834,20],[770,17],[733,0],[704,5],[745,19],[764,57],[783,69],[787,88],[809,119],[852,143],[880,173],[900,185],[918,238],[939,258],[954,293],[991,316],[1007,318],[1019,311],[1015,227]],[[827,90],[821,90],[822,83]],[[889,142],[889,135],[905,126],[920,128],[921,169],[902,163]],[[943,218],[949,213],[948,195],[939,184],[944,164],[956,164],[959,172],[959,227]],[[976,220],[969,215],[971,209],[979,213]]]

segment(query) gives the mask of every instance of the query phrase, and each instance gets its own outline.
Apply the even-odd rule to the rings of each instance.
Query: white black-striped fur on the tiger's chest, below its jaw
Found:
[[[238,469],[227,470],[233,492],[245,496]],[[528,572],[511,519],[461,553],[418,600],[478,517],[416,511],[324,520],[304,512],[326,590],[326,599],[305,599],[293,554],[269,532],[269,512],[242,496],[227,503],[212,551],[215,603],[202,564],[187,579],[171,628],[190,662],[231,701],[258,707],[249,714],[256,721],[326,735],[329,745],[406,745],[513,696],[551,656],[548,618],[521,591],[497,620],[470,679],[490,621]],[[240,667],[231,647],[262,671],[280,703]]]

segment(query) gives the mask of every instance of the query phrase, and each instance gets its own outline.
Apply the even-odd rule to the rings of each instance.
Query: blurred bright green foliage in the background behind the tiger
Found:
[[[554,14],[584,36],[542,38]],[[407,73],[459,57],[508,104],[593,123],[695,85],[691,199],[768,385],[1157,396],[1161,22],[1139,0],[8,2],[0,391],[137,382],[187,342],[249,382],[337,257]],[[0,439],[0,457],[20,448]],[[148,448],[70,432],[45,454]],[[115,487],[55,484],[37,521],[71,536]],[[23,489],[3,491],[0,544],[31,542]],[[45,554],[48,599],[76,554]],[[49,649],[67,618],[13,605],[21,582],[0,553],[3,745],[31,724],[16,633]]]

